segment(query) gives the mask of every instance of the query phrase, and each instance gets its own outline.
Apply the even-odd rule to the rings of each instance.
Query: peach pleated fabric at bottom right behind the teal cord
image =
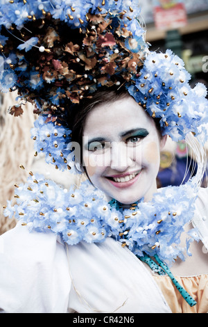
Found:
[[[197,302],[192,308],[187,301],[182,298],[175,285],[168,276],[153,276],[155,282],[161,289],[166,301],[173,313],[207,313],[208,312],[208,274],[175,277],[180,285]]]

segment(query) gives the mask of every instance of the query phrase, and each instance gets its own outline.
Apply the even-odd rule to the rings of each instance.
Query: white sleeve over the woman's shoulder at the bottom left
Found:
[[[67,310],[68,263],[64,245],[55,234],[29,232],[26,225],[18,223],[0,237],[0,266],[0,310]]]

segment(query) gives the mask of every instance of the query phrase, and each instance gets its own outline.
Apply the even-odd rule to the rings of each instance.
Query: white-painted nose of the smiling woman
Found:
[[[131,152],[124,142],[112,142],[110,159],[110,167],[118,171],[125,171],[134,162]]]

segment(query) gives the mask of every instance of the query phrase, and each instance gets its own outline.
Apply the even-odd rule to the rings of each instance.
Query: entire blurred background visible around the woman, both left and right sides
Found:
[[[184,60],[191,74],[191,86],[202,82],[208,86],[208,0],[138,0],[141,22],[146,24],[146,41],[151,51],[172,49]],[[7,113],[16,104],[17,94],[0,94],[0,234],[13,228],[15,219],[3,216],[7,200],[15,200],[15,186],[25,182],[28,173],[40,172],[64,188],[79,184],[78,177],[69,171],[60,173],[46,165],[43,157],[34,157],[31,128],[35,120],[31,104],[26,104],[24,115],[14,118]],[[206,146],[208,153],[208,145]],[[19,168],[23,165],[26,169]],[[197,162],[191,157],[184,142],[175,143],[168,138],[161,154],[157,186],[180,185],[196,172]],[[185,180],[184,173],[188,168]],[[207,166],[208,172],[208,166]],[[207,175],[202,187],[207,186]]]

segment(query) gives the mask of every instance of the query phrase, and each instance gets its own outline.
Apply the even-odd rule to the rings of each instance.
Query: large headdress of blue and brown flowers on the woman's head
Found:
[[[207,90],[191,89],[182,60],[150,52],[138,1],[1,1],[0,90],[18,90],[10,113],[35,104],[35,155],[64,170],[73,163],[66,108],[98,88],[125,86],[174,141],[192,132],[204,142]]]

